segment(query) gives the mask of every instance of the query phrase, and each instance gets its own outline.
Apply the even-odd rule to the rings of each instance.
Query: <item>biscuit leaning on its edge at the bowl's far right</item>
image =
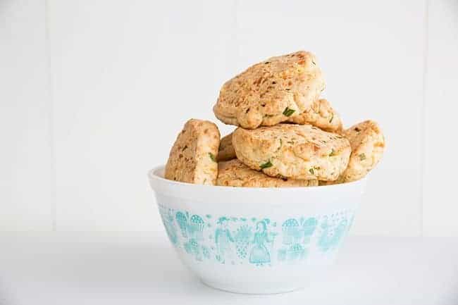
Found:
[[[352,146],[352,154],[339,182],[351,182],[363,178],[380,161],[385,149],[385,138],[373,120],[365,120],[344,130]]]

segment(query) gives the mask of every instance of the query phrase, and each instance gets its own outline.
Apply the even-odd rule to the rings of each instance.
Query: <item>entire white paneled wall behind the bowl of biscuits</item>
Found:
[[[458,236],[455,0],[1,0],[0,231],[161,230],[146,173],[182,124],[299,49],[385,132],[352,232]]]

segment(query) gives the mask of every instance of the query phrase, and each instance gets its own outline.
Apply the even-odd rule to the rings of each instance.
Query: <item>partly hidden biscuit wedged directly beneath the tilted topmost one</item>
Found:
[[[310,108],[288,122],[310,124],[328,132],[342,132],[342,120],[327,99],[317,99]]]

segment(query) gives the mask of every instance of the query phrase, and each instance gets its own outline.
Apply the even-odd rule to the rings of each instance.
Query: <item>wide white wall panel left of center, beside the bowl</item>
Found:
[[[50,1],[58,230],[161,230],[147,170],[230,76],[232,3]]]

